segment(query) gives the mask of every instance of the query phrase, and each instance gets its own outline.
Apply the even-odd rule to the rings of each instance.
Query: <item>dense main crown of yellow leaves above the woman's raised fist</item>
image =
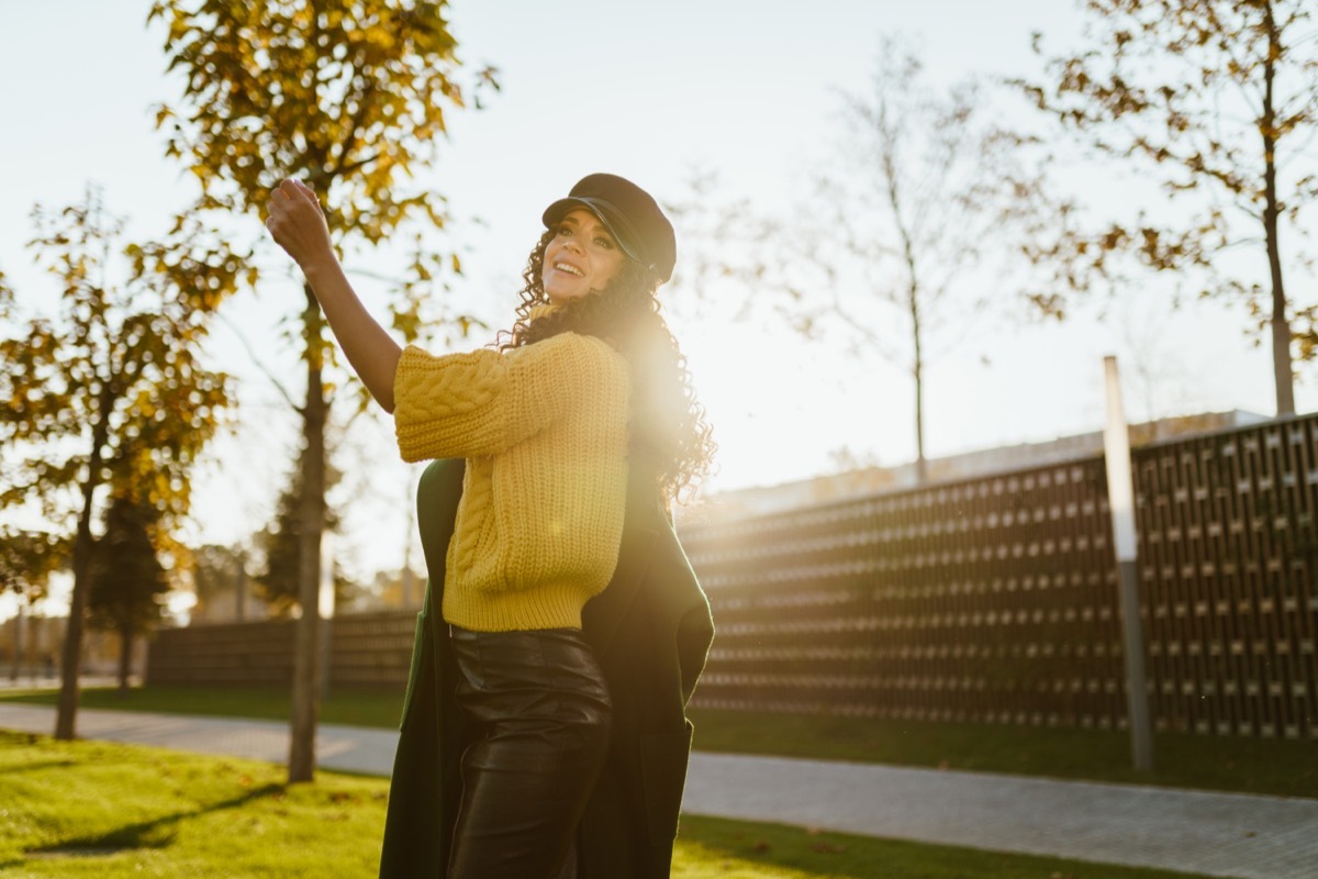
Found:
[[[161,5],[175,20],[185,16],[181,0]],[[203,186],[237,183],[248,207],[269,184],[265,169],[320,169],[324,183],[347,184],[341,198],[353,204],[351,213],[385,212],[374,223],[387,231],[386,191],[411,173],[418,142],[443,130],[444,101],[461,101],[447,80],[457,69],[455,41],[442,4],[330,5],[232,4],[216,14],[241,26],[212,28],[204,51],[171,32],[166,51],[188,74],[199,134],[167,152],[190,153]],[[188,37],[196,29],[190,17]],[[250,63],[253,46],[264,63]],[[492,78],[488,70],[481,76]],[[202,100],[216,95],[223,99]],[[358,225],[369,229],[372,221]]]

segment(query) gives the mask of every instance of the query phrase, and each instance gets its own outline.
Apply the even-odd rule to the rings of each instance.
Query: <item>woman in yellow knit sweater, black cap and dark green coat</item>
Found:
[[[366,314],[308,188],[285,181],[269,204],[403,459],[465,459],[436,477],[459,496],[461,473],[456,503],[422,521],[423,540],[444,538],[427,561],[447,627],[418,639],[382,875],[667,875],[683,712],[712,637],[663,514],[713,449],[655,299],[675,239],[648,194],[609,174],[543,220],[500,349],[432,357]],[[422,688],[447,729],[409,737]]]

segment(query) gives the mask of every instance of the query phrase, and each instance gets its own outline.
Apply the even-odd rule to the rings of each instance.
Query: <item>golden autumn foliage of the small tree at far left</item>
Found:
[[[0,435],[30,444],[25,465],[40,476],[14,497],[58,506],[67,488],[132,482],[144,468],[157,490],[170,489],[167,497],[186,493],[181,468],[214,434],[227,394],[223,376],[192,364],[203,329],[177,285],[231,283],[241,260],[225,246],[198,246],[194,228],[120,246],[129,271],[115,277],[123,264],[98,260],[115,252],[121,227],[94,192],[38,223],[38,260],[70,282],[59,319],[34,319],[13,340],[0,340],[5,362],[17,366],[0,374],[0,399],[21,401],[0,419]],[[88,273],[96,285],[82,282]],[[101,465],[88,468],[88,460]]]

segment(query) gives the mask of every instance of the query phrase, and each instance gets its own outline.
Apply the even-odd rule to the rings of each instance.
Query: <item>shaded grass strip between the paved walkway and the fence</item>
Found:
[[[0,692],[0,700],[55,704],[53,691]],[[84,708],[289,718],[283,689],[145,687],[120,696],[87,689]],[[332,693],[322,705],[326,723],[395,727],[402,693]],[[807,717],[755,712],[692,710],[701,751],[771,754],[816,759],[1011,772],[1095,781],[1318,796],[1315,742],[1157,734],[1156,771],[1131,768],[1126,733],[1102,730],[921,723],[854,717]]]

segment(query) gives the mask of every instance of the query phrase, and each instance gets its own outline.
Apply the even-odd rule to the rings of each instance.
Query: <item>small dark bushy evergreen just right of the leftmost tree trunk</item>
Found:
[[[88,622],[119,634],[119,692],[128,692],[133,639],[159,623],[170,589],[156,553],[161,511],[127,492],[115,493],[105,509],[105,530],[91,561]]]

